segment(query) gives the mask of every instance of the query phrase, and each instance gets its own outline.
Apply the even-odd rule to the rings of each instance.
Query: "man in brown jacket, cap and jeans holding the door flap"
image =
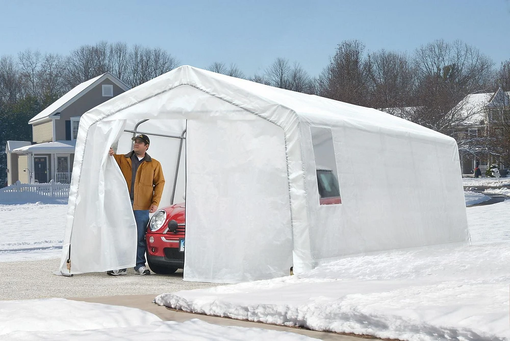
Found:
[[[135,273],[150,275],[145,268],[145,232],[149,222],[149,213],[158,209],[165,178],[159,161],[147,154],[150,140],[145,134],[138,134],[132,138],[133,151],[125,155],[114,154],[110,148],[109,155],[117,161],[129,189],[133,213],[135,214],[138,243],[136,248]],[[126,269],[107,271],[110,276],[127,274]]]

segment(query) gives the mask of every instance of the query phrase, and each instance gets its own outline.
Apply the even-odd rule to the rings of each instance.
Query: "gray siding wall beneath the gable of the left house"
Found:
[[[110,79],[105,79],[94,88],[90,89],[85,95],[71,103],[68,107],[60,112],[60,120],[55,121],[55,135],[57,140],[66,140],[66,121],[71,117],[80,117],[93,107],[104,103],[112,97],[103,96],[103,85],[113,85],[113,96],[117,96],[124,92]]]

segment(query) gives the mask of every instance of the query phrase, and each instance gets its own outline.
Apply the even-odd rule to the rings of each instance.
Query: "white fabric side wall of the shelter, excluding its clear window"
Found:
[[[305,152],[317,261],[468,241],[454,145],[353,127],[334,128],[333,139],[341,205],[319,205],[313,152]]]

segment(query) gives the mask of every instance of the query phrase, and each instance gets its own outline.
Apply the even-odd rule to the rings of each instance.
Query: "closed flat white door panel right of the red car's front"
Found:
[[[288,275],[283,130],[262,119],[190,120],[187,141],[184,279],[235,283]]]

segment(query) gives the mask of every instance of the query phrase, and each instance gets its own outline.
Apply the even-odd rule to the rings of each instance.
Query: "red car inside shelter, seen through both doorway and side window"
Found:
[[[342,204],[336,176],[330,169],[317,169],[320,205]],[[184,269],[184,241],[186,232],[185,203],[158,210],[147,224],[147,263],[160,274]]]

